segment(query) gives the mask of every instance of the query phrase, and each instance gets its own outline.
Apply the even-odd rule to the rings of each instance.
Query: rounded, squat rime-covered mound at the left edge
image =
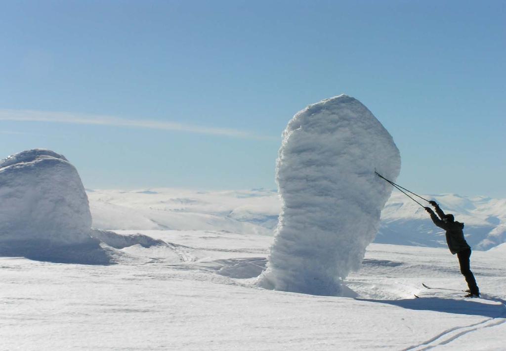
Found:
[[[88,197],[63,155],[34,149],[0,161],[0,255],[107,263]]]

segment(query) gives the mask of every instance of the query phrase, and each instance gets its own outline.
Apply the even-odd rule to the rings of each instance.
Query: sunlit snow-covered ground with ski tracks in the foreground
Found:
[[[483,298],[461,297],[447,249],[385,244],[369,245],[348,298],[258,288],[270,236],[119,232],[165,243],[116,250],[115,265],[1,257],[0,349],[504,349],[505,244],[473,252]]]

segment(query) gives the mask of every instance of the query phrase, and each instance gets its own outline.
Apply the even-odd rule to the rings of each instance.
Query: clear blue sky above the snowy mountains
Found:
[[[275,188],[292,115],[364,103],[421,193],[506,197],[504,1],[7,1],[0,157],[89,188]]]

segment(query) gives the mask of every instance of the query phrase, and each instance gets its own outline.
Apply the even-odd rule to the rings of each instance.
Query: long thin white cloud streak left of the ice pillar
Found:
[[[102,126],[180,131],[187,133],[208,134],[208,135],[217,135],[242,139],[273,139],[271,136],[261,136],[254,133],[229,128],[203,127],[203,126],[186,125],[182,123],[162,122],[154,120],[130,120],[115,116],[91,115],[72,112],[0,109],[0,121],[102,125]]]

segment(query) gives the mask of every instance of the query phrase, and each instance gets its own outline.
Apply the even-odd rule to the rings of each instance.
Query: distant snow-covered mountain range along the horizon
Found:
[[[275,190],[197,191],[156,188],[88,189],[93,226],[101,229],[225,230],[272,235],[280,200]],[[469,244],[488,250],[506,242],[506,199],[422,195],[465,223]],[[445,247],[443,230],[404,194],[394,191],[382,213],[376,243]]]

